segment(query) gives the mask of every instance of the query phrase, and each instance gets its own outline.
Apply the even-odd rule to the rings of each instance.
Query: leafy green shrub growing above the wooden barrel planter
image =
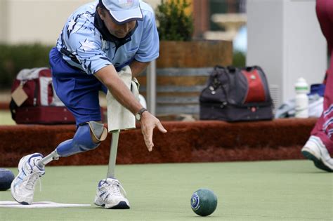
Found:
[[[166,41],[190,41],[193,34],[192,13],[187,15],[185,8],[190,4],[183,0],[162,0],[157,6],[156,19],[159,39]]]

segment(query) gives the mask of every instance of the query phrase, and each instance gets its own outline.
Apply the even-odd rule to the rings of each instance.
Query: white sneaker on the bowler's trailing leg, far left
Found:
[[[43,155],[39,153],[22,157],[18,163],[18,175],[11,182],[11,195],[23,205],[31,204],[34,199],[34,187],[37,179],[45,174],[45,169],[37,166]]]

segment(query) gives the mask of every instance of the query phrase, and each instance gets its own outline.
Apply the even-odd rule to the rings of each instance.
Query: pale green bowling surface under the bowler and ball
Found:
[[[17,175],[16,168],[10,168]],[[49,166],[34,201],[90,203],[86,208],[0,208],[0,220],[332,220],[333,175],[311,161],[117,165],[131,209],[93,205],[107,166]],[[190,208],[195,190],[218,197],[215,212]],[[13,201],[10,190],[0,201]]]

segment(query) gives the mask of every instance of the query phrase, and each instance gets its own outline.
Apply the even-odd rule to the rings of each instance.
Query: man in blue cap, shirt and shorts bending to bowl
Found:
[[[99,91],[113,97],[141,123],[145,145],[152,151],[152,131],[166,130],[131,93],[117,72],[129,66],[137,76],[159,55],[159,36],[152,8],[139,0],[100,0],[81,6],[68,18],[56,47],[50,52],[55,92],[74,114],[77,130],[48,156],[22,157],[11,194],[21,204],[31,204],[34,187],[53,160],[95,149],[105,140]],[[74,187],[73,187],[74,190]],[[129,208],[116,178],[98,182],[94,203],[105,208]]]

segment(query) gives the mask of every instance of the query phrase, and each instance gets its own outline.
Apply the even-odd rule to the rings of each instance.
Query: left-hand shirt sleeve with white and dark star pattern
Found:
[[[102,51],[100,32],[87,20],[77,21],[77,28],[67,36],[67,49],[77,58],[84,72],[95,74],[112,62]]]

